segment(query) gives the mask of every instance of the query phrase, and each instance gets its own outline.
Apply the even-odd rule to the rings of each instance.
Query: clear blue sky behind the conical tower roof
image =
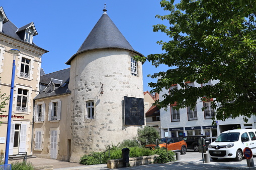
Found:
[[[77,52],[90,31],[103,14],[104,4],[107,14],[121,31],[134,50],[144,56],[162,53],[159,40],[169,41],[163,33],[154,33],[153,25],[167,24],[155,18],[166,15],[160,0],[74,0],[74,1],[3,1],[8,19],[18,28],[34,22],[38,35],[34,43],[49,52],[42,57],[45,73],[68,68],[65,62]],[[148,74],[166,71],[166,66],[155,68],[150,63],[143,64],[144,91],[150,91]]]

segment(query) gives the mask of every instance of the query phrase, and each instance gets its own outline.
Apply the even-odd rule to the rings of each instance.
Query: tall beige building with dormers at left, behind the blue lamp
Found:
[[[39,92],[39,78],[42,55],[48,51],[33,44],[33,36],[37,35],[34,23],[17,28],[7,18],[0,7],[0,89],[1,93],[10,94],[13,54],[17,49],[14,96],[12,105],[12,122],[9,155],[28,152],[31,154],[33,99]],[[9,103],[9,101],[7,101]],[[4,154],[8,123],[8,108],[0,114],[0,150]]]

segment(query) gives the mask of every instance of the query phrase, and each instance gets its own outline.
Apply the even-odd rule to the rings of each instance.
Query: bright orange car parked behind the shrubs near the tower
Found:
[[[149,147],[149,148],[154,148],[155,146],[156,146],[155,144],[145,145],[145,147]],[[162,149],[166,149],[165,138],[160,139],[160,144],[158,145],[158,147]],[[167,149],[173,150],[174,152],[181,152],[181,154],[186,154],[187,143],[185,142],[185,140],[183,140],[180,137],[169,137],[167,138]]]

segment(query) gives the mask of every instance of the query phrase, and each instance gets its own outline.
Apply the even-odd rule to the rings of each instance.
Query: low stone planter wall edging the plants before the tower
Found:
[[[156,157],[159,155],[150,155],[150,156],[140,156],[140,157],[130,157],[129,163],[126,166],[138,166],[142,164],[152,163]],[[107,167],[110,169],[123,167],[123,159],[111,159],[108,160]]]

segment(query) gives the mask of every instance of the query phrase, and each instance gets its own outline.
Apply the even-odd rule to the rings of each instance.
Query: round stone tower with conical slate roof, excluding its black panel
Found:
[[[143,98],[142,64],[135,51],[104,13],[70,65],[68,136],[70,161],[104,151],[108,145],[133,139],[141,125],[125,125],[124,96]]]

